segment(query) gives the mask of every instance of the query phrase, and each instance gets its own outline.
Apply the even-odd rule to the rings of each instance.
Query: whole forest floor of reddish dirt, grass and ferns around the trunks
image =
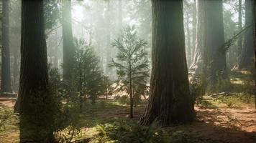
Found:
[[[146,101],[134,107],[120,99],[100,97],[95,104],[87,101],[76,123],[55,132],[58,142],[177,142],[177,143],[254,143],[256,133],[253,82],[247,74],[231,74],[231,90],[206,94],[196,103],[197,120],[192,124],[159,127],[154,122],[144,127],[137,122]],[[243,91],[243,92],[242,92]],[[245,91],[245,92],[244,92]],[[19,142],[19,117],[13,114],[14,99],[0,98],[0,142]]]

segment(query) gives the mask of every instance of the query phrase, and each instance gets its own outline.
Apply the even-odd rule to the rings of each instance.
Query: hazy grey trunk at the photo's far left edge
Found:
[[[1,31],[3,46],[1,48],[1,92],[12,92],[9,49],[9,0],[2,2],[3,21]]]

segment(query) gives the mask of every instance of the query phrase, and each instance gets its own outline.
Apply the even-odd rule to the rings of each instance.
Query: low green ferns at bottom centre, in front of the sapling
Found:
[[[168,134],[157,122],[144,127],[127,119],[120,119],[113,124],[99,124],[97,134],[91,142],[131,142],[165,143],[170,142]]]

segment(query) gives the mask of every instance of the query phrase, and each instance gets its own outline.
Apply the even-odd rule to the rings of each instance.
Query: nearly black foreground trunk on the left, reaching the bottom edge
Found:
[[[19,97],[20,142],[52,142],[52,99],[47,92],[47,48],[42,0],[22,0]]]

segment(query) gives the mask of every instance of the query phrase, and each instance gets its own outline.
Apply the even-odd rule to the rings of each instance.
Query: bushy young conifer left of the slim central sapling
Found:
[[[74,62],[74,78],[79,97],[89,97],[94,103],[108,88],[109,79],[104,77],[99,66],[99,57],[83,39],[75,41],[77,50]]]

